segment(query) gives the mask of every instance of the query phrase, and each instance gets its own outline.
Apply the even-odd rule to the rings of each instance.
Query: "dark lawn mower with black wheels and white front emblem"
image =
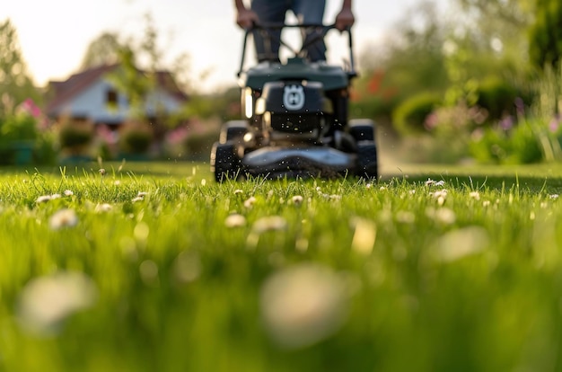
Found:
[[[281,38],[284,28],[316,32],[300,50]],[[210,156],[216,182],[248,177],[378,178],[373,120],[348,120],[349,87],[356,77],[351,30],[349,60],[344,66],[311,62],[306,48],[334,25],[256,25],[245,32],[241,66],[241,114],[244,120],[223,124]],[[244,69],[249,35],[277,38],[290,56],[272,58]]]

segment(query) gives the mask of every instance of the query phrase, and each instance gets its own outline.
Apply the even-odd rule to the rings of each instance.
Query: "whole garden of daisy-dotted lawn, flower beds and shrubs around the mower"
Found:
[[[0,371],[562,370],[562,5],[454,3],[360,57],[378,180],[217,183],[237,89],[53,123],[0,50]]]

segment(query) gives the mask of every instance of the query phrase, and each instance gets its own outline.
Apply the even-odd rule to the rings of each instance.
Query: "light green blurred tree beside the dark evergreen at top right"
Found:
[[[448,103],[475,104],[481,85],[492,78],[509,85],[506,89],[528,89],[530,1],[455,0],[455,26],[444,45],[452,80]]]

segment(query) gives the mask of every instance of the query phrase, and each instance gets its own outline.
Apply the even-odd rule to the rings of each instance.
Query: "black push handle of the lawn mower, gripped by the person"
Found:
[[[319,23],[299,23],[299,24],[285,24],[285,23],[252,23],[252,26],[250,28],[246,28],[244,29],[244,38],[243,38],[243,43],[242,43],[242,56],[241,56],[241,63],[240,63],[240,69],[238,71],[238,76],[241,75],[242,70],[244,68],[244,60],[246,58],[246,46],[247,46],[247,42],[248,42],[248,35],[250,35],[251,32],[256,31],[256,30],[265,30],[265,31],[277,31],[277,30],[282,30],[285,28],[298,28],[298,29],[321,29],[321,36],[313,39],[313,40],[309,40],[309,42],[307,42],[306,44],[304,44],[301,47],[301,51],[303,51],[303,49],[305,49],[305,47],[307,47],[308,45],[311,45],[313,42],[316,42],[318,40],[318,38],[324,38],[324,36],[326,36],[326,34],[330,31],[330,30],[337,30],[336,24],[319,24]],[[347,32],[347,37],[348,37],[348,46],[349,46],[349,71],[348,74],[355,76],[356,75],[356,70],[355,70],[355,61],[353,58],[353,37],[351,34],[351,28],[347,27],[344,31]],[[287,45],[283,40],[281,40],[281,38],[279,38],[279,44],[283,45],[285,48],[291,50],[295,55],[298,55],[297,52],[295,52],[289,45]],[[300,53],[300,52],[299,52]]]

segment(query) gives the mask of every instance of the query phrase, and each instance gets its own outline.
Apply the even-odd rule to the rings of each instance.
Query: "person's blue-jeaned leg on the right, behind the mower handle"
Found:
[[[299,22],[310,24],[322,24],[326,0],[294,0],[293,12]],[[307,45],[311,40],[321,36],[321,31],[308,31],[304,35],[303,44]],[[308,58],[312,62],[326,60],[326,45],[323,38],[313,42],[306,48]]]

